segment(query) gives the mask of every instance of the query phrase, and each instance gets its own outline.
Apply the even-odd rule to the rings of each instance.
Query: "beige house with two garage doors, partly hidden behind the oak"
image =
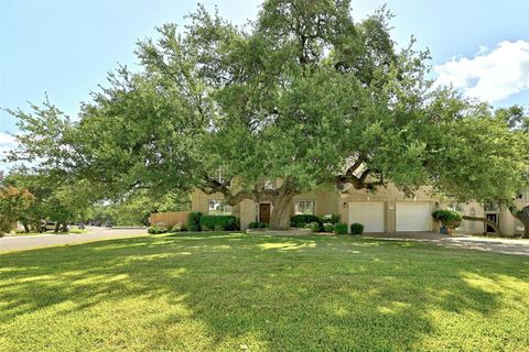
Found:
[[[263,187],[273,187],[272,183],[264,183]],[[520,195],[518,206],[529,202],[529,193]],[[235,207],[224,202],[222,194],[206,195],[195,189],[192,195],[192,210],[208,215],[234,215],[240,219],[242,230],[252,221],[270,220],[272,205],[268,201],[256,204],[252,200],[244,200]],[[344,191],[314,190],[294,197],[291,206],[291,216],[311,213],[324,216],[337,213],[342,221],[347,224],[353,222],[363,223],[365,232],[409,232],[409,231],[438,231],[439,224],[432,219],[435,208],[451,208],[466,216],[485,217],[499,224],[506,234],[521,233],[523,227],[515,219],[505,207],[494,204],[467,204],[442,202],[427,191],[418,191],[410,199],[395,186],[380,187],[377,193],[356,190],[353,187]],[[521,207],[520,207],[521,208]],[[460,232],[485,233],[494,232],[493,229],[478,221],[463,221]]]

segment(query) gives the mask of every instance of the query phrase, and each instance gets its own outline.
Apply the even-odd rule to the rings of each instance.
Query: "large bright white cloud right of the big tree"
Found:
[[[433,69],[436,85],[453,85],[469,98],[500,101],[529,89],[529,42],[505,41],[493,50],[482,45],[473,58],[455,57]]]

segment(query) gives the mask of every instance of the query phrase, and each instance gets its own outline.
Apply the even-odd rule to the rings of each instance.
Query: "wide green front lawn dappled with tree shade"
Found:
[[[0,351],[529,351],[529,257],[176,234],[0,254]]]

